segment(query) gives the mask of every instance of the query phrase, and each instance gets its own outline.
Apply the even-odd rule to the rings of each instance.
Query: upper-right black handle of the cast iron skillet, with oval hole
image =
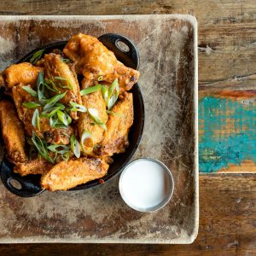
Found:
[[[117,59],[123,62],[125,66],[138,69],[140,62],[139,53],[137,47],[131,42],[130,39],[113,33],[104,34],[98,39],[108,49],[112,50]],[[119,42],[126,44],[125,48],[127,48],[127,50],[122,49]]]

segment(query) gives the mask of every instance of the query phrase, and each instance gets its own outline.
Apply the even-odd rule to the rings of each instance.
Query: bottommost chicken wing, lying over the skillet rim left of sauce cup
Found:
[[[107,172],[108,164],[100,159],[61,161],[42,176],[41,186],[50,191],[72,189],[79,184],[103,177]]]

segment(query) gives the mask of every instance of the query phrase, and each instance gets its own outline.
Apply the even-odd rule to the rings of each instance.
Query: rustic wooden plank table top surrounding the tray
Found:
[[[195,242],[188,246],[2,245],[1,255],[256,254],[255,0],[116,0],[109,3],[103,0],[2,0],[0,3],[0,15],[177,13],[195,15],[199,27],[201,209]],[[242,172],[247,174],[237,174]]]

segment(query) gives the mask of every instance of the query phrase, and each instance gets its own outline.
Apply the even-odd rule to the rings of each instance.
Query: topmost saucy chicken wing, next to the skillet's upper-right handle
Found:
[[[84,84],[95,84],[99,77],[111,84],[118,78],[121,89],[131,90],[139,78],[137,70],[125,67],[95,37],[79,33],[69,39],[63,51],[76,63],[77,73],[84,75]]]

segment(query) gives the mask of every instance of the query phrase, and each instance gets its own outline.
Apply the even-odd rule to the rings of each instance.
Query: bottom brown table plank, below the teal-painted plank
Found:
[[[192,245],[1,245],[0,255],[255,255],[255,175],[201,176],[200,201],[200,230]]]

